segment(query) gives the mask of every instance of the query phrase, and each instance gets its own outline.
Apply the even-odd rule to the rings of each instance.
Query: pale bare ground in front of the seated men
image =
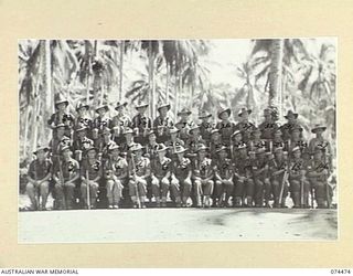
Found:
[[[20,243],[336,240],[336,210],[120,209],[19,213]]]

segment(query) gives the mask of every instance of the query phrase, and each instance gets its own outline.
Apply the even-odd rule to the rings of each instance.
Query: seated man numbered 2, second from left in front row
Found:
[[[53,180],[55,181],[55,205],[60,210],[71,210],[74,203],[74,190],[79,178],[79,164],[72,158],[68,146],[61,149],[63,160],[53,168]]]

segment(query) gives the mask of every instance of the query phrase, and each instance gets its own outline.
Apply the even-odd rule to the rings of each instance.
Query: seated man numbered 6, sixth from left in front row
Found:
[[[167,206],[167,194],[170,185],[172,160],[165,157],[167,149],[164,144],[158,145],[158,158],[153,161],[151,170],[152,194],[158,208],[160,206],[160,195],[162,197],[162,208]]]

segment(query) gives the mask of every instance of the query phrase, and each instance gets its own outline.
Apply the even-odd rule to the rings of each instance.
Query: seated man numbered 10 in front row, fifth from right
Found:
[[[247,158],[246,145],[243,144],[236,148],[237,158],[234,160],[234,206],[246,206],[253,202],[254,180],[248,174],[249,158]],[[245,198],[247,201],[245,202]]]

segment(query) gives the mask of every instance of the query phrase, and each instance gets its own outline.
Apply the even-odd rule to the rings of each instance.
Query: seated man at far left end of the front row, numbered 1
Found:
[[[47,147],[38,146],[33,152],[35,159],[30,163],[28,171],[26,194],[31,200],[31,210],[46,210],[46,200],[49,195],[49,180],[52,176],[52,162],[46,159]],[[42,198],[42,204],[40,203]]]

